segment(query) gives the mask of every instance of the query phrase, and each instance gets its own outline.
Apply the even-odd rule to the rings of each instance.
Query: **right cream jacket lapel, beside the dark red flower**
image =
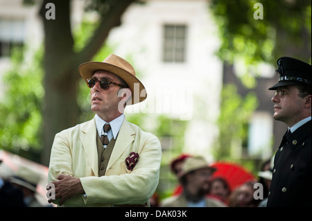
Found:
[[[110,156],[110,161],[108,161],[107,169],[116,162],[117,159],[123,154],[126,148],[134,141],[135,131],[132,130],[130,124],[127,120],[123,120],[123,124],[120,127],[119,134],[112,150],[112,155]],[[107,170],[106,170],[107,171]]]

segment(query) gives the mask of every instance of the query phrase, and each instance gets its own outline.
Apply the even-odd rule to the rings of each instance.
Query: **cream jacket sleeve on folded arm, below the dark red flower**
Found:
[[[158,139],[145,143],[139,161],[132,171],[116,175],[126,167],[124,159],[103,177],[82,177],[80,181],[87,197],[85,204],[144,204],[155,192],[159,181],[161,148]]]

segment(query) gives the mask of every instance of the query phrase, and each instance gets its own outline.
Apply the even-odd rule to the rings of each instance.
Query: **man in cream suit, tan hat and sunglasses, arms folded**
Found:
[[[131,64],[117,55],[83,63],[79,72],[90,87],[96,115],[55,135],[46,186],[49,202],[149,206],[159,181],[161,145],[123,114],[125,105],[145,100],[144,85]]]

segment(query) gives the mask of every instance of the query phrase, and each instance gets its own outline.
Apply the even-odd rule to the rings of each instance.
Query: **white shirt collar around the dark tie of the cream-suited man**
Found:
[[[103,126],[105,125],[105,123],[110,123],[110,127],[112,128],[112,130],[107,133],[108,139],[110,140],[113,136],[114,139],[116,139],[125,115],[121,114],[121,116],[115,118],[110,122],[105,122],[101,117],[98,116],[98,114],[96,114],[94,118],[96,121],[96,130],[98,131],[98,136],[101,136],[101,134],[103,134]]]

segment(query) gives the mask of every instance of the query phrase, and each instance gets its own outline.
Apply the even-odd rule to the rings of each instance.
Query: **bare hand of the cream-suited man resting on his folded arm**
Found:
[[[53,200],[60,199],[58,204],[62,206],[66,200],[85,193],[80,179],[77,177],[60,174],[56,179],[59,181],[51,182],[46,185],[49,186],[49,189],[47,188],[46,190],[49,191],[49,193],[54,193],[54,195],[49,197],[49,203],[53,202]]]

